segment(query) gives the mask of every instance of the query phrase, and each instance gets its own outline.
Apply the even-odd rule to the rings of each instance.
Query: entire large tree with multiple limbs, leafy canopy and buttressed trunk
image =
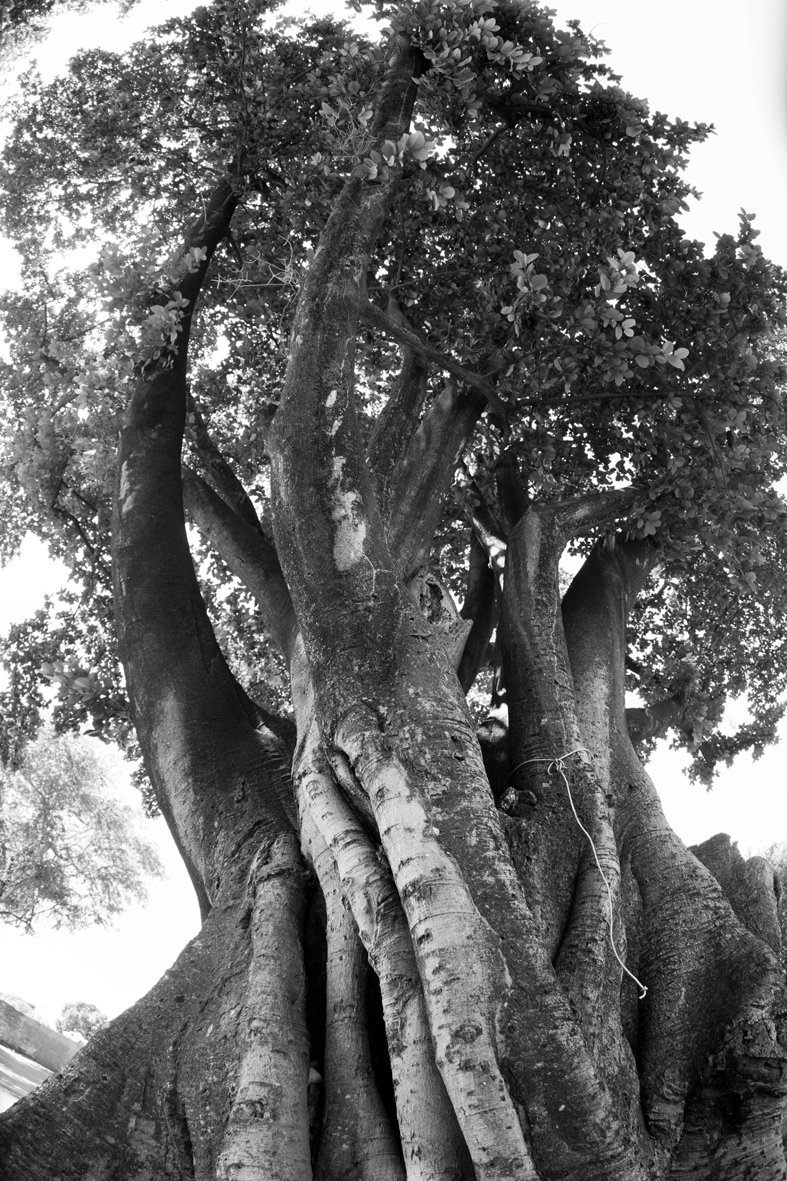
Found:
[[[683,235],[705,129],[577,27],[265,7],[13,112],[2,544],[73,589],[6,757],[41,659],[59,725],[130,716],[204,921],[4,1175],[783,1179],[774,872],[637,753],[780,716],[783,276]]]

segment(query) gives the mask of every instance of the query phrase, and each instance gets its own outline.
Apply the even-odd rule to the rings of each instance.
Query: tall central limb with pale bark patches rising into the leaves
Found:
[[[372,123],[381,144],[408,130],[422,61],[405,37],[395,39]],[[356,170],[336,201],[301,287],[271,438],[277,548],[310,659],[334,646],[338,631],[358,658],[388,664],[379,637],[394,642],[402,609],[353,389],[369,255],[401,174],[397,163],[372,182]],[[357,691],[351,664],[340,663],[342,676]]]

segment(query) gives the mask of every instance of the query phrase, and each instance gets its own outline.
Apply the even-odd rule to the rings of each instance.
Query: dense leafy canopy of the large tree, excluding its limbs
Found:
[[[785,475],[787,288],[749,215],[711,256],[681,229],[685,155],[708,129],[651,112],[603,47],[534,5],[378,9],[424,56],[415,125],[397,143],[370,141],[383,45],[331,20],[272,22],[261,0],[208,5],[124,57],[82,54],[54,85],[31,74],[9,111],[0,218],[25,291],[0,307],[11,341],[0,482],[25,508],[8,514],[0,553],[22,523],[47,537],[78,580],[72,628],[89,631],[87,603],[100,601],[106,637],[96,660],[65,633],[46,647],[43,625],[26,635],[37,667],[69,678],[63,723],[84,724],[98,703],[92,729],[122,729],[106,599],[115,442],[135,372],[178,344],[183,308],[161,293],[195,263],[180,253],[183,224],[229,169],[241,202],[191,334],[191,393],[264,514],[265,433],[300,276],[345,180],[373,185],[402,164],[371,298],[395,298],[435,347],[489,374],[507,406],[481,424],[462,479],[494,505],[505,448],[532,497],[635,483],[627,526],[656,539],[665,580],[636,620],[648,670],[637,687],[669,696],[694,661],[684,739],[722,751],[720,703],[746,691],[760,740],[787,655],[786,521],[773,491]],[[389,344],[359,338],[365,420],[397,366]],[[430,396],[441,387],[434,378]],[[458,504],[461,489],[449,516]],[[441,533],[455,586],[467,536]],[[282,672],[247,596],[195,549],[236,673],[280,705]],[[21,637],[13,647],[27,667]],[[19,676],[40,710],[32,674]]]

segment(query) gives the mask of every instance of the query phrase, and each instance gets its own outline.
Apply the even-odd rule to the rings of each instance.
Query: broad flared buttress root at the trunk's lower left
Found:
[[[147,997],[102,1030],[67,1066],[4,1113],[0,1125],[0,1174],[8,1181],[52,1179],[208,1179],[219,1174],[227,1141],[234,1148],[234,1108],[243,1095],[247,1046],[258,1023],[272,1020],[259,987],[265,979],[253,928],[262,907],[274,928],[277,890],[304,898],[303,879],[277,850],[267,867],[261,859],[249,877],[251,856],[241,854],[225,879],[200,934]],[[271,888],[259,889],[271,874]],[[281,883],[277,886],[277,883]],[[295,890],[293,895],[292,890]],[[297,902],[303,909],[303,901]],[[286,916],[297,920],[298,908]],[[278,935],[279,932],[277,931]],[[286,940],[286,935],[282,941]],[[292,940],[291,940],[292,942]],[[275,955],[275,993],[286,997],[287,974]],[[307,1039],[303,976],[293,973],[291,1005],[300,1013],[304,1114],[307,1087]],[[255,1006],[256,1001],[256,1006]],[[233,1103],[235,1097],[235,1103]],[[284,1109],[298,1140],[307,1123],[298,1104]],[[271,1118],[273,1120],[272,1111]],[[272,1142],[285,1143],[282,1128],[271,1123]],[[228,1175],[243,1175],[229,1173]],[[278,1172],[271,1157],[266,1176],[308,1175]]]

